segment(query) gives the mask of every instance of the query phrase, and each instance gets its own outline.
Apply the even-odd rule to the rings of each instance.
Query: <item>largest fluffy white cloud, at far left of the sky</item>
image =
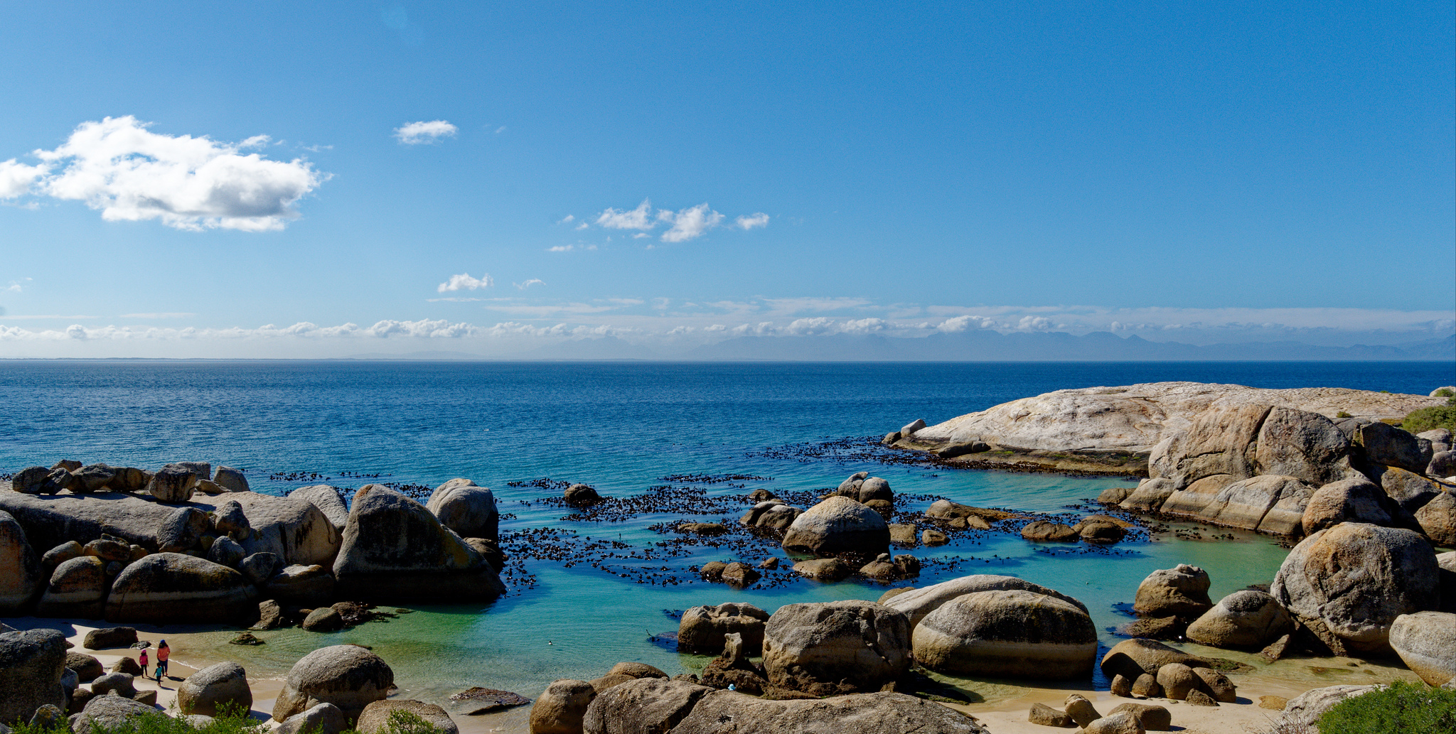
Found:
[[[23,194],[17,186],[29,176],[29,191],[84,201],[106,221],[264,232],[297,218],[294,204],[329,178],[301,159],[240,153],[264,135],[230,144],[156,134],[149,125],[131,115],[82,122],[63,146],[33,153],[41,166],[0,165],[0,189]]]

